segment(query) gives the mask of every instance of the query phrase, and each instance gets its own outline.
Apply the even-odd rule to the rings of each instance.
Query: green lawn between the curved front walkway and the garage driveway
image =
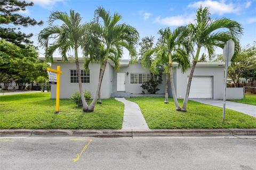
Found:
[[[222,108],[188,101],[186,113],[175,111],[173,99],[164,104],[161,97],[127,98],[140,106],[150,129],[215,129],[256,128],[256,118],[227,109],[226,121],[221,122]],[[179,100],[182,105],[182,100]]]

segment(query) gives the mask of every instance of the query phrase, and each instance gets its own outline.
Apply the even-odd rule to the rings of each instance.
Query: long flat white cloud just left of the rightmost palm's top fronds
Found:
[[[180,26],[180,25],[186,25],[188,23],[193,23],[194,18],[195,18],[194,14],[167,16],[165,18],[161,18],[161,16],[158,16],[154,22],[161,23],[167,26]]]

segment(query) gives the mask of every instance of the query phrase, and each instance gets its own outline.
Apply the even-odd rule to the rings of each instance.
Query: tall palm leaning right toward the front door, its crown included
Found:
[[[123,48],[126,48],[127,50],[129,50],[131,60],[134,61],[137,54],[135,46],[139,40],[139,33],[135,28],[125,23],[118,24],[118,22],[122,18],[122,16],[118,13],[114,13],[114,15],[111,16],[110,13],[106,11],[103,7],[99,7],[97,10],[95,10],[94,16],[95,24],[93,24],[92,30],[94,30],[99,36],[101,43],[106,49],[106,54],[103,58],[103,64],[99,75],[97,91],[95,92],[92,103],[88,108],[89,112],[93,111],[95,102],[98,98],[107,62],[111,57],[111,55],[109,55],[110,49],[113,48],[116,50],[119,61],[119,59],[121,58],[121,54],[123,53]],[[100,19],[102,20],[102,23],[100,22]]]

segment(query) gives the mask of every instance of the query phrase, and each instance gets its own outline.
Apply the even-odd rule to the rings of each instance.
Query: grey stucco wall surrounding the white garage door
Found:
[[[182,73],[181,69],[177,69],[176,91],[178,98],[184,98],[185,96],[189,74],[190,69],[185,73]],[[211,76],[213,99],[223,98],[224,69],[222,66],[196,66],[193,76]]]

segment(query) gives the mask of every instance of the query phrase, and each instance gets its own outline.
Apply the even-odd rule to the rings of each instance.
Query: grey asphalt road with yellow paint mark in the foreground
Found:
[[[234,137],[0,140],[0,169],[249,169],[256,139]]]

